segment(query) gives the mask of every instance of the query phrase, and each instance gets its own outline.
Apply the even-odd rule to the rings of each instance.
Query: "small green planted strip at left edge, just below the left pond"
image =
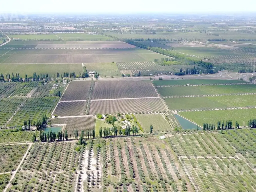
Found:
[[[31,141],[33,134],[36,134],[36,137],[39,135],[37,131],[17,131],[17,132],[9,132],[9,131],[0,131],[0,143],[14,143],[14,142],[26,142]]]

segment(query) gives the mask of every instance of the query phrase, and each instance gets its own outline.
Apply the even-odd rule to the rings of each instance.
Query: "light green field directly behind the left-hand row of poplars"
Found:
[[[25,78],[33,76],[36,72],[38,75],[48,73],[51,77],[57,77],[57,72],[63,74],[64,72],[83,72],[82,63],[52,63],[52,64],[0,64],[0,73],[4,75],[7,73],[19,73],[20,77]]]

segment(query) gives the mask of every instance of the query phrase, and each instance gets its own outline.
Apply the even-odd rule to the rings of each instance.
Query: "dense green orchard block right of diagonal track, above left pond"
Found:
[[[23,125],[23,122],[28,119],[32,122],[37,119],[40,120],[43,114],[49,117],[58,100],[59,97],[26,98],[23,105],[20,106],[20,110],[17,111],[7,126]]]

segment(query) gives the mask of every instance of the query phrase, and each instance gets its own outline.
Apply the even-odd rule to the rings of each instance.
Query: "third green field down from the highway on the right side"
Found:
[[[256,105],[255,95],[164,98],[171,110],[248,107]]]

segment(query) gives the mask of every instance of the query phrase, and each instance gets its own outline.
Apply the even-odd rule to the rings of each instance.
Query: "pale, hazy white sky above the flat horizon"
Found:
[[[2,1],[8,13],[196,13],[255,12],[256,0],[12,0]]]

